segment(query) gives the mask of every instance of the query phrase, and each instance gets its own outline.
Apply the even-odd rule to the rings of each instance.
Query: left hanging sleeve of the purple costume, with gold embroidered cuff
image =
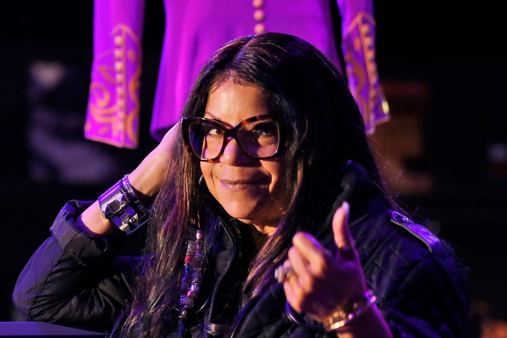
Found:
[[[95,0],[85,138],[137,148],[144,0]]]

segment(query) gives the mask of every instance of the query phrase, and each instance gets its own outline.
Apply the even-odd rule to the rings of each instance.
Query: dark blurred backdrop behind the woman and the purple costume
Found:
[[[116,149],[82,137],[92,61],[92,6],[92,1],[18,0],[3,7],[0,14],[4,225],[0,321],[17,319],[10,300],[15,280],[49,235],[49,226],[64,202],[95,199],[156,145],[148,128],[163,38],[162,1],[148,0],[146,6],[137,150]],[[429,220],[428,225],[440,229],[442,238],[453,244],[469,268],[474,304],[491,317],[507,319],[503,13],[491,4],[472,1],[445,5],[375,2],[377,63],[382,81],[390,88],[386,96],[391,104],[391,126],[396,125],[396,116],[408,116],[416,121],[420,138],[419,151],[403,158],[400,179],[419,173],[430,181],[425,191],[395,192],[416,216]],[[34,94],[29,72],[37,61],[56,62],[65,68],[62,84],[39,96]],[[415,89],[407,94],[407,88]],[[52,108],[49,125],[32,116],[35,104]],[[380,136],[391,122],[379,126]],[[109,162],[95,163],[90,171],[96,175],[88,183],[62,179],[62,168],[52,167],[44,151],[48,148],[45,139],[33,138],[33,131],[42,127],[60,142],[58,156],[70,156],[67,170],[91,165],[86,161],[89,154]],[[391,130],[391,142],[396,141],[396,132],[403,131],[416,138],[409,129],[394,134]],[[69,145],[76,147],[68,150]],[[80,156],[79,149],[89,152]],[[55,158],[64,158],[58,156]],[[41,167],[44,170],[39,175]]]

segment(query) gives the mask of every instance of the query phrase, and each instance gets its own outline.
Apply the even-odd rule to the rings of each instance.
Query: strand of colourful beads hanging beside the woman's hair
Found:
[[[191,222],[196,228],[195,220]],[[187,241],[187,252],[184,261],[184,273],[179,297],[179,323],[180,327],[186,327],[187,315],[192,311],[194,300],[199,295],[204,266],[204,232],[196,229],[195,239]]]

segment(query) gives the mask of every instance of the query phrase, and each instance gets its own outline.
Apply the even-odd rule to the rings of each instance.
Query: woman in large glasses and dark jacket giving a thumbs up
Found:
[[[392,210],[357,106],[317,49],[233,40],[183,116],[98,201],[64,207],[16,286],[27,320],[116,321],[133,337],[468,334],[465,278]],[[138,265],[125,242],[142,233],[114,224],[139,226],[155,196]]]

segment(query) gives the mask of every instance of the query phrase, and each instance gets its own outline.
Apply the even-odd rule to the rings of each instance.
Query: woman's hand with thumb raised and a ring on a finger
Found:
[[[333,232],[338,251],[326,251],[306,232],[298,232],[288,251],[285,267],[292,266],[283,289],[292,308],[322,322],[337,308],[364,297],[366,283],[348,229],[348,204],[333,217]]]

